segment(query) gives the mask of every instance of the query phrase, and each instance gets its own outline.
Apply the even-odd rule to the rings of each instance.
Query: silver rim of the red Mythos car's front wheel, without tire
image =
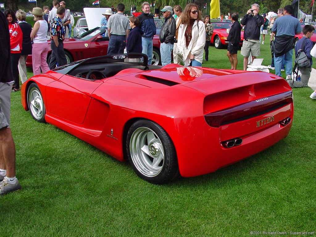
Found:
[[[32,115],[38,120],[42,119],[45,115],[43,97],[40,91],[35,87],[31,88],[28,93],[28,104]]]

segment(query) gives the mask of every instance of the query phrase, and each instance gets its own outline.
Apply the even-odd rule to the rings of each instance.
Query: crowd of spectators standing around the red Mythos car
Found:
[[[32,54],[33,74],[38,75],[67,63],[63,41],[71,35],[70,11],[65,9],[64,1],[52,2],[53,8],[48,6],[43,10],[33,8],[30,14],[34,15],[35,24],[32,28],[26,22],[26,13],[11,9],[0,12],[1,31],[1,57],[0,57],[0,195],[21,188],[15,177],[15,145],[10,130],[10,92],[20,90],[20,80],[27,80],[26,59]],[[156,34],[156,26],[153,15],[150,14],[150,4],[144,2],[141,6],[142,13],[137,17],[126,17],[123,12],[125,5],[117,5],[117,13],[114,8],[107,10],[101,20],[101,27],[106,28],[103,36],[109,37],[107,54],[121,54],[124,49],[128,53],[143,53],[148,57],[148,64],[152,62],[153,37]],[[241,55],[244,56],[243,69],[247,70],[249,57],[251,61],[260,56],[260,28],[263,25],[263,41],[267,34],[269,21],[266,14],[259,15],[260,6],[252,4],[241,20],[244,26],[244,40]],[[131,7],[131,13],[136,11],[135,5]],[[292,88],[307,87],[312,62],[312,56],[316,57],[316,47],[310,40],[314,27],[306,25],[302,29],[303,37],[296,45],[295,34],[301,33],[300,21],[293,17],[290,5],[278,9],[278,18],[272,19],[271,28],[271,55],[270,68],[275,69],[276,75],[281,76],[285,68],[286,80]],[[164,6],[161,13],[165,19],[159,34],[160,53],[162,65],[173,63],[184,66],[202,66],[209,59],[210,41],[214,32],[210,24],[210,16],[202,18],[202,13],[197,4],[189,3],[182,10],[181,6]],[[238,14],[230,15],[232,27],[228,32],[227,56],[231,64],[231,70],[236,70],[238,59],[237,51],[240,46],[241,25]],[[203,20],[202,20],[203,19]],[[33,46],[31,41],[33,40]],[[47,64],[48,41],[51,40],[51,59]],[[301,81],[292,80],[292,56],[304,52],[308,58],[306,65],[296,62],[295,68],[301,72]],[[132,61],[137,62],[135,58]],[[298,73],[296,73],[298,74]],[[316,99],[316,91],[310,96]]]

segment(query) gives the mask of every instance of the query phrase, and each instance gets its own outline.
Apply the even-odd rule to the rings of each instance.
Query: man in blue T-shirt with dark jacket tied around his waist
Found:
[[[295,34],[301,33],[301,24],[291,14],[293,9],[287,5],[283,9],[283,16],[276,19],[272,27],[274,33],[274,65],[276,75],[281,76],[282,60],[284,55],[286,79],[291,79],[292,56],[294,49]]]

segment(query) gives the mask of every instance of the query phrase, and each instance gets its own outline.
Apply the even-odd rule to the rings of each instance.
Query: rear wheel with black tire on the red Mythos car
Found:
[[[126,150],[135,173],[149,183],[164,184],[179,176],[173,142],[155,122],[138,120],[131,125]]]

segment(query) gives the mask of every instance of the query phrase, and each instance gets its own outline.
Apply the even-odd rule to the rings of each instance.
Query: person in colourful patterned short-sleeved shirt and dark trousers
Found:
[[[58,63],[59,67],[67,64],[67,58],[64,52],[65,27],[61,21],[61,19],[64,18],[65,11],[66,9],[64,7],[59,7],[56,16],[51,21],[52,56],[49,62],[50,69],[54,69],[56,63]]]

